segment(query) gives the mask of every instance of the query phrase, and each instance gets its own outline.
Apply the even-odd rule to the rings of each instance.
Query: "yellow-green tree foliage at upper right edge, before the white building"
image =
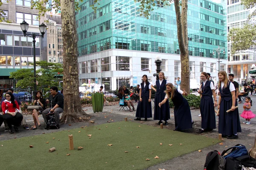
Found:
[[[256,0],[241,0],[241,4],[246,9],[251,9],[256,6]],[[256,15],[256,10],[252,12],[249,19],[253,19]],[[247,49],[254,48],[256,45],[256,27],[255,23],[247,24],[244,28],[232,28],[228,34],[228,40],[232,42],[231,54],[241,52]]]

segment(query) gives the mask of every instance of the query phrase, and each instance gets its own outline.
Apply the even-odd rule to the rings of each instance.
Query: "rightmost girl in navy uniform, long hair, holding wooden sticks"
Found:
[[[237,132],[241,132],[238,109],[235,109],[236,94],[234,84],[228,81],[226,71],[218,73],[219,96],[219,122],[218,133],[227,136],[227,139],[238,139]],[[229,113],[227,110],[231,109]]]

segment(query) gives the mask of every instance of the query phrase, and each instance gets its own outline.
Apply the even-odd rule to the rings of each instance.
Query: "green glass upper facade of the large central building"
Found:
[[[92,4],[82,2],[76,14],[79,56],[113,48],[179,54],[174,4],[156,4],[149,19],[140,16],[133,0],[100,1],[96,12]],[[190,56],[218,58],[213,49],[227,48],[226,8],[225,1],[189,1]],[[224,54],[220,58],[227,59]]]

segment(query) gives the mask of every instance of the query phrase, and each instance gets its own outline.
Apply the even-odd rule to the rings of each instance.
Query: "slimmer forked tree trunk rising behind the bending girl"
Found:
[[[182,0],[182,13],[180,14],[179,0],[174,0],[177,36],[180,47],[180,63],[181,63],[181,89],[185,89],[190,94],[190,72],[189,72],[189,50],[188,50],[188,28],[187,28],[187,11],[188,1]]]

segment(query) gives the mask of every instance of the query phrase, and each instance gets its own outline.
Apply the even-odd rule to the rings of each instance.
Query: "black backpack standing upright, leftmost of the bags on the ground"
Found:
[[[207,154],[204,170],[224,170],[226,160],[217,151],[211,151]]]

